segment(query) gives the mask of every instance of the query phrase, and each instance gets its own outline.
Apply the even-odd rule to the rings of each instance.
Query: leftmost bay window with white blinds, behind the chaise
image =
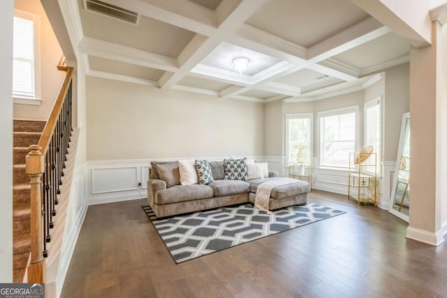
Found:
[[[313,114],[288,114],[286,121],[287,164],[310,163]]]

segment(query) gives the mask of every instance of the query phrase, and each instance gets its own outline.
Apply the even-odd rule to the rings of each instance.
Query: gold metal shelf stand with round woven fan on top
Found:
[[[348,200],[377,205],[377,156],[367,146],[349,154]]]

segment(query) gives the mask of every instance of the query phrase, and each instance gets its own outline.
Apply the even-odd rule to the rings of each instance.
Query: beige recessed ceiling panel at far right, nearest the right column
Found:
[[[409,53],[408,41],[392,32],[335,55],[332,59],[361,70],[392,61]]]

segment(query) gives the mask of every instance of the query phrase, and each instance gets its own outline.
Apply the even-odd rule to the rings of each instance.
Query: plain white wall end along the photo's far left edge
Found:
[[[0,1],[0,282],[13,281],[13,16],[14,1]]]

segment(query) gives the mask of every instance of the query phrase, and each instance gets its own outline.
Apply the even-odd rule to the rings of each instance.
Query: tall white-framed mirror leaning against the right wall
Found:
[[[410,113],[402,117],[399,148],[397,150],[393,191],[390,198],[390,213],[409,221],[410,208]]]

